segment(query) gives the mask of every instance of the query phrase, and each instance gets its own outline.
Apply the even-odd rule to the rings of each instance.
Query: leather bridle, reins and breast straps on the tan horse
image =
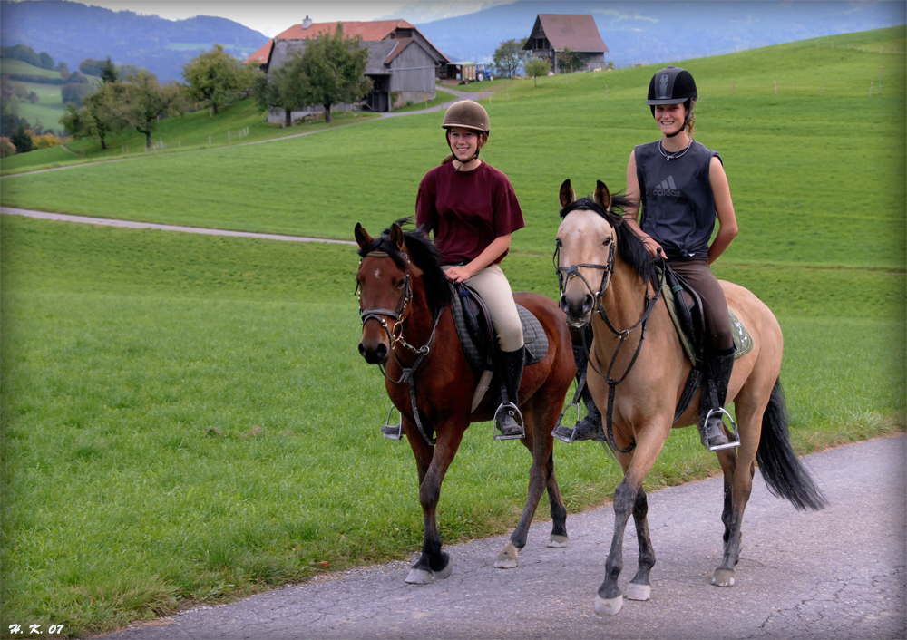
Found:
[[[554,259],[554,267],[557,269],[558,287],[561,291],[561,296],[564,295],[564,287],[567,286],[567,283],[570,281],[570,278],[572,276],[578,276],[580,278],[580,280],[582,281],[582,283],[586,286],[586,288],[589,289],[589,292],[593,298],[593,304],[597,305],[596,309],[595,309],[596,312],[599,314],[600,318],[605,323],[605,325],[609,328],[610,332],[614,335],[614,337],[616,337],[620,340],[620,343],[618,344],[617,349],[614,350],[614,354],[611,356],[611,362],[608,365],[608,371],[606,373],[606,372],[601,371],[600,366],[598,364],[596,364],[598,357],[596,357],[595,360],[592,359],[590,345],[586,344],[585,333],[583,333],[583,336],[582,336],[583,348],[586,350],[586,355],[589,358],[589,363],[592,365],[592,369],[595,371],[595,373],[598,373],[602,378],[604,378],[606,383],[608,383],[608,407],[607,407],[607,411],[605,412],[605,426],[606,426],[606,432],[607,432],[607,436],[608,436],[608,444],[611,448],[611,451],[617,451],[619,453],[629,453],[630,451],[633,451],[633,449],[636,448],[635,440],[631,441],[626,449],[619,449],[617,442],[614,441],[614,427],[613,427],[614,393],[617,391],[617,385],[619,383],[622,383],[627,378],[630,370],[633,368],[633,365],[636,364],[637,358],[639,357],[639,352],[642,350],[642,343],[646,339],[646,328],[649,325],[649,315],[652,314],[652,310],[655,308],[655,305],[658,304],[658,298],[661,297],[661,290],[662,290],[662,286],[664,285],[665,274],[664,274],[664,270],[662,269],[661,282],[658,283],[654,296],[649,295],[649,284],[648,283],[646,284],[646,303],[645,303],[646,308],[642,314],[642,317],[639,318],[639,321],[635,325],[631,326],[629,329],[624,329],[622,331],[619,331],[618,329],[614,328],[614,325],[611,324],[610,318],[608,317],[608,314],[605,311],[605,307],[602,303],[602,297],[604,296],[605,291],[607,290],[608,286],[610,285],[611,276],[614,275],[614,253],[615,253],[616,247],[614,244],[613,230],[611,231],[611,235],[609,236],[609,238],[607,238],[605,240],[604,244],[605,244],[605,246],[610,247],[610,250],[608,252],[608,264],[606,264],[606,265],[578,264],[578,265],[571,265],[571,267],[561,267],[561,246],[562,245],[561,245],[560,239],[557,241],[557,247],[554,249],[553,259]],[[599,287],[598,291],[595,291],[594,289],[592,289],[592,286],[589,284],[589,280],[587,280],[585,276],[580,274],[580,267],[590,267],[590,268],[600,269],[603,272],[602,276],[601,276],[601,286]],[[640,329],[640,328],[642,330],[642,334],[639,338],[639,344],[637,344],[637,347],[636,347],[636,353],[634,353],[633,357],[630,359],[630,362],[627,365],[627,369],[624,371],[623,375],[621,375],[619,378],[614,378],[611,375],[611,372],[614,370],[614,364],[617,363],[617,359],[618,359],[618,355],[620,354],[620,350],[623,348],[624,344],[626,344],[627,340],[629,339],[629,336],[634,331],[636,331],[637,329]],[[581,392],[582,392],[582,389],[578,388],[577,397],[576,397],[576,399],[574,399],[574,402],[577,402],[579,400],[579,396],[580,396]]]

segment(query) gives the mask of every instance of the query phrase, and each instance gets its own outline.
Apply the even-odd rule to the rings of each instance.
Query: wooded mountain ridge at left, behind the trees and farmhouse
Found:
[[[179,79],[181,66],[214,43],[245,58],[268,42],[268,36],[206,15],[166,20],[66,0],[3,0],[0,41],[4,46],[28,44],[71,70],[85,58],[110,56],[116,64],[145,67],[166,81]]]

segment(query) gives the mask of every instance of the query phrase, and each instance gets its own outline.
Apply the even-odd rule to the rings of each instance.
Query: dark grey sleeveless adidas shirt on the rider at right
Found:
[[[658,141],[640,144],[636,155],[642,218],[639,227],[665,249],[668,260],[708,259],[715,229],[715,199],[708,164],[717,151],[692,141],[686,153],[666,160]]]

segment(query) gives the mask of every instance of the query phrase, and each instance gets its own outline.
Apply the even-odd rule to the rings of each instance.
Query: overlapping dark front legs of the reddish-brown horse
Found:
[[[422,504],[422,517],[424,526],[424,535],[422,542],[422,555],[413,565],[406,576],[406,582],[412,585],[427,585],[434,580],[441,580],[451,575],[453,565],[450,556],[441,550],[441,536],[438,533],[437,507],[438,500],[441,498],[441,483],[444,481],[444,474],[450,467],[453,456],[456,454],[463,439],[463,429],[455,428],[452,425],[439,425],[437,443],[434,446],[434,452],[431,456],[431,463],[421,478],[419,483],[419,502]],[[414,440],[421,441],[422,435],[418,432],[415,425],[406,429],[410,435],[410,443],[413,445],[413,451],[417,449],[430,449],[429,445],[422,441],[421,446]],[[416,460],[420,458],[416,452]],[[420,471],[420,476],[422,473]]]

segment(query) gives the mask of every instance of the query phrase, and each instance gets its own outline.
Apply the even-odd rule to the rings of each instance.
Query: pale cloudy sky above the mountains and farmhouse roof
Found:
[[[325,23],[378,18],[403,18],[425,23],[453,15],[471,14],[487,6],[514,0],[83,0],[85,5],[123,9],[137,14],[160,15],[169,20],[184,20],[195,15],[217,15],[245,24],[250,29],[274,37],[308,15]]]

